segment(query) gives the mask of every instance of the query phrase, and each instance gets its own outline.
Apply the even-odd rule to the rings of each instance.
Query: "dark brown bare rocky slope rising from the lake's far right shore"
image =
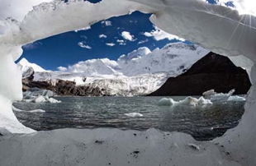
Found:
[[[248,92],[250,86],[244,69],[236,67],[229,58],[211,52],[182,75],[168,78],[159,90],[149,96],[201,95],[211,89],[218,93],[235,89],[236,95],[242,95]]]

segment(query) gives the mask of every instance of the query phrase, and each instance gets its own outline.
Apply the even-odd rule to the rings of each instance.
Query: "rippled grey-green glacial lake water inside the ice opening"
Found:
[[[55,97],[59,104],[17,102],[23,110],[43,109],[45,113],[16,112],[26,127],[37,131],[59,128],[120,128],[122,130],[182,131],[196,140],[212,140],[236,127],[244,113],[245,101],[229,101],[191,107],[159,106],[163,97]],[[172,97],[178,101],[185,97]],[[125,113],[141,113],[129,117]]]

